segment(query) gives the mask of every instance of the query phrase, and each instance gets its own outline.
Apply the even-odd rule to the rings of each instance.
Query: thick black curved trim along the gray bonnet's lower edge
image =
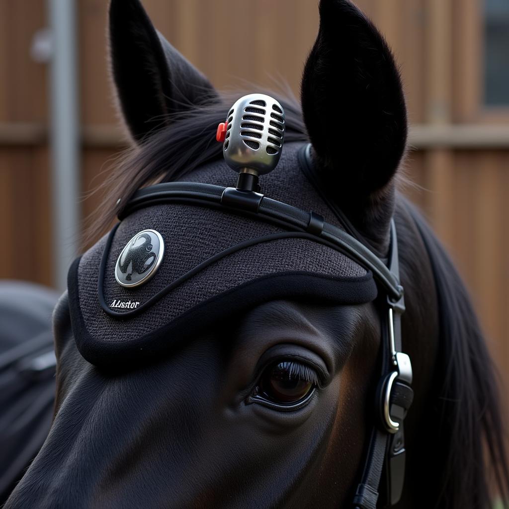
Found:
[[[357,278],[317,276],[306,272],[268,274],[197,304],[176,319],[133,340],[103,341],[87,330],[79,306],[76,259],[68,275],[71,325],[80,354],[92,364],[107,369],[128,369],[142,361],[159,358],[182,341],[219,320],[225,320],[275,299],[314,299],[333,304],[361,304],[373,301],[377,286],[371,272]],[[129,322],[126,317],[125,322]]]

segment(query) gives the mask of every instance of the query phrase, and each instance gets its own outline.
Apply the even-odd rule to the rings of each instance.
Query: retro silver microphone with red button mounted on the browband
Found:
[[[259,190],[258,177],[279,162],[285,140],[285,112],[265,94],[241,97],[217,127],[226,163],[239,174],[237,189]]]

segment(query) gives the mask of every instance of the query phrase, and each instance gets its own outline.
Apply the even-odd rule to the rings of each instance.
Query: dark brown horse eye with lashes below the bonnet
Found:
[[[260,377],[256,397],[276,405],[304,400],[318,385],[316,371],[300,362],[282,360],[270,365]]]

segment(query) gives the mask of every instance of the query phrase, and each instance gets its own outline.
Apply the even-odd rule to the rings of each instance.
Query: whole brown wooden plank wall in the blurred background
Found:
[[[412,123],[484,125],[480,0],[359,0],[401,65]],[[82,188],[121,150],[106,58],[106,0],[79,0]],[[145,0],[157,26],[218,88],[244,80],[296,95],[318,27],[309,0]],[[51,284],[47,69],[30,58],[44,2],[0,0],[0,277]],[[509,115],[500,118],[509,120]],[[488,119],[488,120],[487,120]],[[3,126],[3,127],[2,127]],[[16,133],[19,136],[9,133]],[[13,139],[10,139],[13,138]],[[509,147],[428,147],[409,154],[406,192],[447,246],[471,291],[509,388]],[[107,170],[106,170],[107,171]],[[103,174],[102,174],[103,175]],[[83,215],[97,207],[83,202]],[[21,247],[21,249],[19,249]]]

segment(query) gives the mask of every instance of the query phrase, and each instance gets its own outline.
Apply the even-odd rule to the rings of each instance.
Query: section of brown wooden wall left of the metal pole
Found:
[[[34,32],[44,26],[44,2],[0,0],[0,123],[44,125],[46,69],[29,58]],[[12,132],[12,131],[11,131]],[[16,136],[14,136],[16,137]],[[51,284],[48,151],[15,139],[0,146],[0,277]]]

